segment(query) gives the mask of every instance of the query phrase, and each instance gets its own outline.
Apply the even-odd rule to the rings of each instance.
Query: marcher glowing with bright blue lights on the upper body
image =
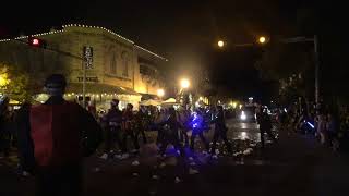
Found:
[[[192,125],[192,131],[193,131],[192,136],[190,138],[191,150],[194,150],[195,138],[197,135],[200,136],[202,143],[204,144],[206,151],[208,152],[209,150],[209,144],[204,136],[204,130],[206,127],[204,123],[205,122],[204,122],[203,112],[201,110],[197,110],[196,112],[194,112],[190,123]]]

